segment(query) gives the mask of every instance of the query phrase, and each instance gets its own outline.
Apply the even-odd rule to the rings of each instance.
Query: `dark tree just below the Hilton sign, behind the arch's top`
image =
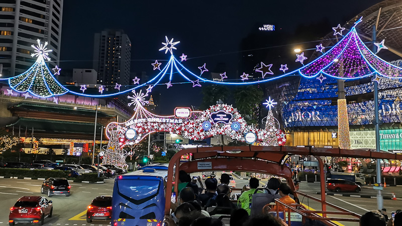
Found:
[[[203,102],[201,103],[202,109],[207,109],[212,105],[217,104],[217,101],[227,101],[230,90],[224,85],[209,85],[203,86]]]

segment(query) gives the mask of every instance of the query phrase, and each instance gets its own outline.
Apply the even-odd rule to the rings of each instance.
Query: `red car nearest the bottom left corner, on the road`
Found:
[[[9,224],[39,223],[43,225],[45,217],[52,217],[52,201],[43,196],[22,196],[10,208]]]

